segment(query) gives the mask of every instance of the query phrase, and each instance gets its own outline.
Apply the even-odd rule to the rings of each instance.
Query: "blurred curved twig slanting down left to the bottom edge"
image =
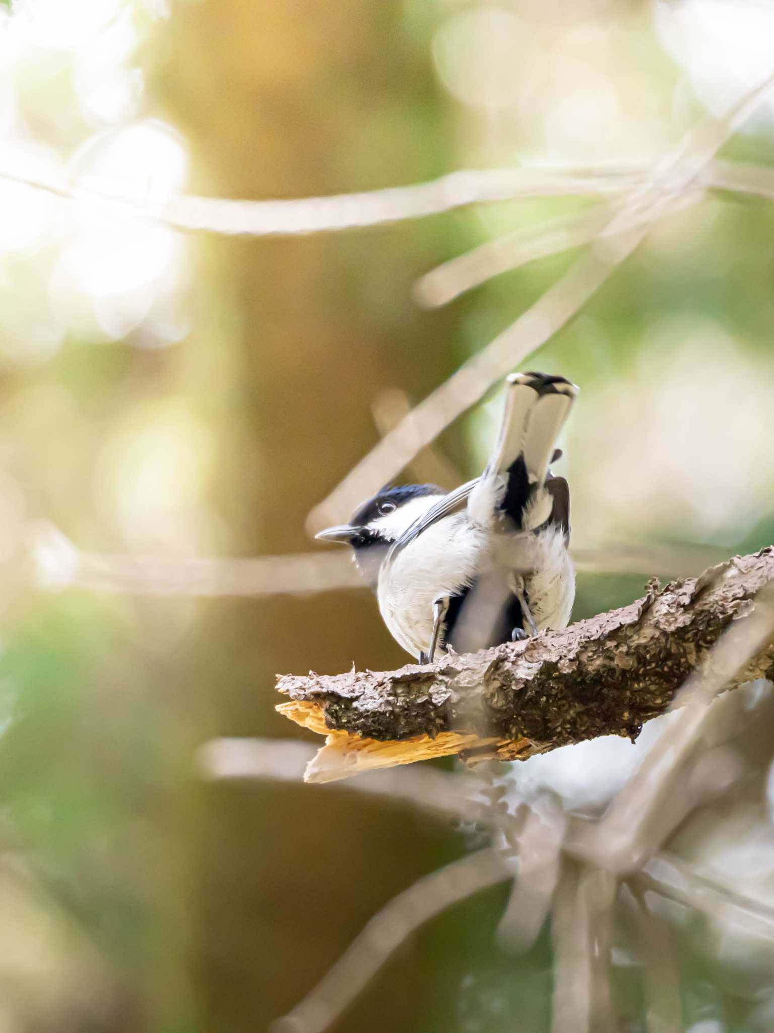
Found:
[[[368,921],[312,993],[272,1024],[271,1033],[322,1033],[420,926],[452,904],[512,875],[502,855],[487,849],[417,880]]]

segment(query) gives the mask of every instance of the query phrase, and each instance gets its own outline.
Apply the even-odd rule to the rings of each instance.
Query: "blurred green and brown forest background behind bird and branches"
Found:
[[[200,778],[212,737],[315,738],[275,713],[277,672],[407,660],[342,564],[320,584],[349,587],[313,593],[317,567],[229,563],[315,551],[310,511],[576,253],[443,307],[423,275],[600,201],[269,239],[181,232],[166,206],[456,168],[647,174],[774,71],[773,34],[762,0],[0,4],[2,1033],[266,1030],[375,911],[471,848],[397,802]],[[773,104],[723,158],[767,175]],[[581,387],[556,467],[583,559],[576,618],[774,538],[772,241],[771,200],[714,191],[529,356]],[[475,475],[498,415],[493,389],[406,476]],[[738,710],[733,806],[707,806],[674,849],[774,904],[766,689]],[[499,778],[514,808],[599,810],[657,725]],[[428,924],[335,1029],[548,1030],[551,939],[509,953],[507,897]],[[685,909],[662,920],[685,1029],[774,1029],[771,941]],[[616,1028],[667,1029],[631,926]]]

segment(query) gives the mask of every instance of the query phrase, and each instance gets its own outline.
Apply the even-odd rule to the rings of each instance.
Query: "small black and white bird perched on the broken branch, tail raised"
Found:
[[[480,477],[449,494],[385,488],[350,524],[317,535],[352,546],[385,624],[420,663],[569,623],[570,490],[549,464],[577,393],[563,377],[512,373]]]

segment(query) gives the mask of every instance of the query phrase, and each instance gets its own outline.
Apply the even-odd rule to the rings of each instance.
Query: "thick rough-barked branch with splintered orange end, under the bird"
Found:
[[[768,546],[660,591],[651,582],[642,599],[562,631],[432,666],[286,675],[278,689],[290,699],[277,709],[327,737],[311,782],[452,753],[516,760],[599,735],[634,740],[772,580]],[[773,676],[769,641],[728,687]]]

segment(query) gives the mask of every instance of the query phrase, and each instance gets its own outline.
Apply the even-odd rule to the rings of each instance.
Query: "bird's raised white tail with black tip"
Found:
[[[507,378],[497,443],[469,499],[474,523],[485,526],[505,512],[517,528],[529,531],[551,516],[552,495],[543,488],[577,394],[565,377],[512,373]]]

